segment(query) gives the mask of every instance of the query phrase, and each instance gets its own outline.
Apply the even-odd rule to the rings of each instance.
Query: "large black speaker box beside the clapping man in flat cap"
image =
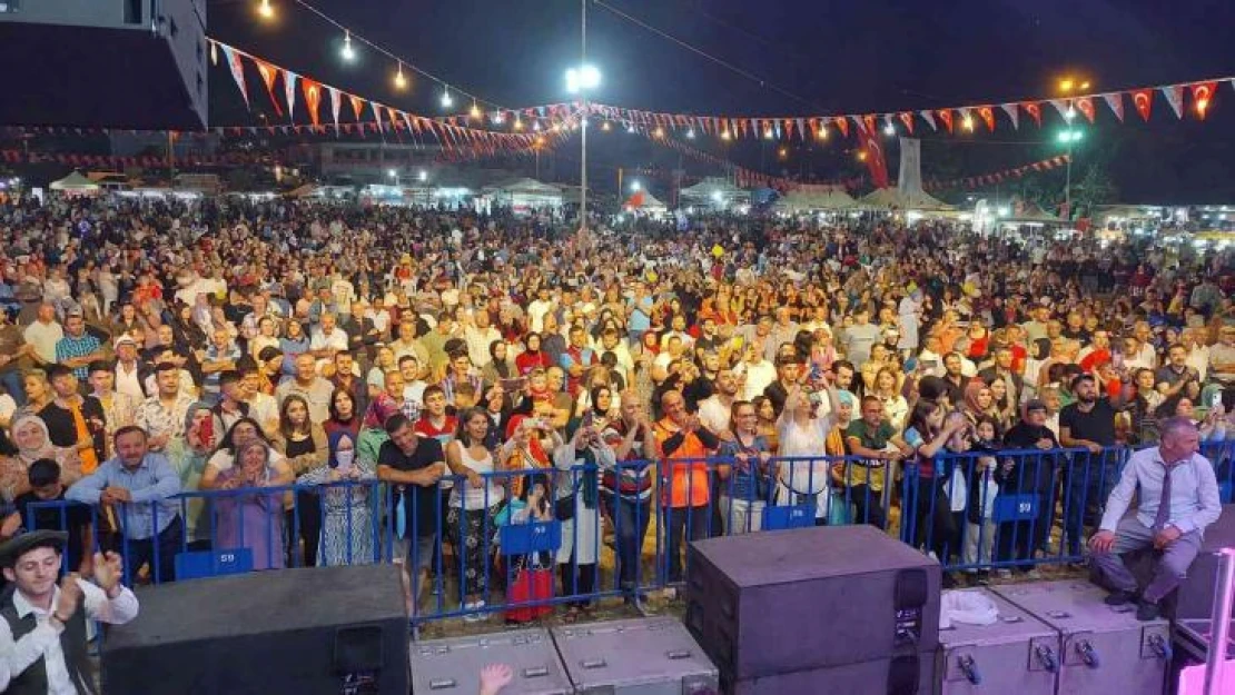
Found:
[[[105,693],[406,695],[394,565],[284,569],[140,590],[103,642]]]

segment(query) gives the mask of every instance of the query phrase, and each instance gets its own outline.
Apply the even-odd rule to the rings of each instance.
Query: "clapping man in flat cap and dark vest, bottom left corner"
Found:
[[[9,695],[95,695],[86,620],[112,625],[137,617],[137,596],[121,586],[116,553],[94,556],[94,581],[69,573],[57,585],[68,535],[32,531],[0,546],[11,584],[0,595],[0,688]]]

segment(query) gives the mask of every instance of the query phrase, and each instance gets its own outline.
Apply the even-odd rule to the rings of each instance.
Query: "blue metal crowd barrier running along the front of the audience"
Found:
[[[946,572],[1079,563],[1130,453],[584,460],[448,475],[425,488],[342,480],[189,491],[161,502],[46,501],[30,505],[25,521],[73,535],[65,572],[89,569],[100,548],[125,556],[130,584],[395,562],[405,565],[415,621],[501,614],[526,622],[555,605],[640,605],[651,591],[679,588],[692,539],[810,525],[877,526]],[[1235,442],[1207,442],[1202,454],[1230,502]]]

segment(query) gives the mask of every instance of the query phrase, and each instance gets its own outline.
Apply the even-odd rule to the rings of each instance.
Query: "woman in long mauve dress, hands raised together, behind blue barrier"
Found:
[[[270,446],[251,439],[236,449],[236,464],[219,474],[215,501],[217,548],[248,548],[253,569],[283,569],[282,491],[262,488],[282,485],[282,472],[273,462]]]

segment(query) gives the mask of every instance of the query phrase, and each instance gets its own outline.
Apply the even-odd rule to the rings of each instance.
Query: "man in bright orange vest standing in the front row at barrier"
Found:
[[[687,412],[679,391],[661,396],[664,417],[656,423],[656,444],[661,459],[661,502],[668,530],[669,581],[682,581],[683,537],[706,538],[711,481],[705,458],[720,447],[720,439]]]

